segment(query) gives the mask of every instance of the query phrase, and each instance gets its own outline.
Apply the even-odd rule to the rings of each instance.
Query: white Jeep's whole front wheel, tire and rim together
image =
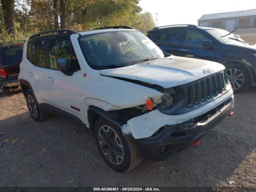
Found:
[[[94,134],[100,155],[117,172],[128,172],[140,164],[138,150],[130,136],[103,117],[95,123]]]

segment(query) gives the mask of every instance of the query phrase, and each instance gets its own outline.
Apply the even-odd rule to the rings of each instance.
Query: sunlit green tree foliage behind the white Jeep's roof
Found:
[[[31,34],[53,30],[54,0],[16,0],[16,39],[27,39]],[[105,26],[131,26],[146,33],[155,24],[150,12],[141,13],[139,0],[65,0],[66,27],[88,30]],[[60,1],[57,14],[60,18]],[[4,28],[3,11],[0,8],[0,41],[10,40]]]

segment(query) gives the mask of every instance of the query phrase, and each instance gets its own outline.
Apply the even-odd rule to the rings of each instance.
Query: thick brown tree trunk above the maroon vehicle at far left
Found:
[[[15,22],[14,22],[14,0],[6,1],[6,18],[7,18],[7,32],[16,36]]]

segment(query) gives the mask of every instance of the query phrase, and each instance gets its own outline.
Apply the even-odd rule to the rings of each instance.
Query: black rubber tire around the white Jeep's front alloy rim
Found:
[[[109,155],[104,154],[102,146],[100,144],[103,142],[102,141],[100,142],[100,140],[102,140],[102,139],[100,138],[101,136],[99,136],[99,133],[101,133],[102,130],[104,129],[103,127],[105,127],[105,128],[110,127],[112,130],[114,130],[114,132],[112,132],[112,133],[116,134],[118,136],[118,138],[116,138],[116,141],[114,141],[114,142],[122,145],[123,158],[122,158],[121,162],[118,162],[118,160],[117,160],[119,156],[117,156],[117,158],[115,159],[116,160],[116,164],[115,164],[110,160],[112,158]],[[101,132],[100,132],[100,130],[101,130]],[[108,131],[108,132],[110,132],[110,131]],[[134,143],[132,142],[131,136],[124,136],[121,129],[119,127],[117,127],[116,125],[114,125],[113,123],[111,123],[110,121],[106,120],[103,117],[99,117],[95,123],[94,134],[95,134],[95,138],[96,138],[96,145],[98,147],[100,155],[102,156],[102,158],[104,159],[106,164],[108,164],[108,166],[110,166],[110,168],[112,168],[113,170],[115,170],[117,172],[128,172],[128,171],[132,170],[133,168],[135,168],[136,166],[138,166],[138,164],[140,164],[141,159],[138,158],[138,150],[137,150],[136,146],[134,145]],[[110,137],[106,136],[106,138],[108,138],[110,140],[110,142],[112,143],[114,136],[112,138],[111,138],[111,136]],[[106,150],[106,151],[111,150],[110,149],[111,143],[106,144],[106,146],[108,145],[109,148],[104,146],[104,150]],[[112,153],[113,154],[114,154],[113,151],[115,151],[115,150],[117,150],[118,153],[121,154],[120,148],[117,149],[113,144],[112,145]],[[108,158],[107,158],[107,156],[108,156]],[[113,157],[115,157],[115,155]]]

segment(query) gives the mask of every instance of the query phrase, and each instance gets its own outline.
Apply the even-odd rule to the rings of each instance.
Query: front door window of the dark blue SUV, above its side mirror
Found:
[[[184,44],[201,46],[203,41],[210,40],[204,34],[196,30],[186,30],[185,38],[183,40]]]

